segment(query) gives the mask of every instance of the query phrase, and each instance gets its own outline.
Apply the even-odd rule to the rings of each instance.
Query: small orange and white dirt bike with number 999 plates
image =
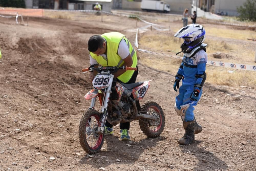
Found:
[[[119,69],[137,70],[127,66],[102,67],[98,64],[82,70],[83,73],[98,71],[92,81],[94,89],[84,95],[86,100],[91,100],[91,105],[79,125],[80,144],[89,154],[95,154],[101,149],[106,120],[112,125],[139,120],[142,132],[150,138],[156,138],[163,132],[165,117],[161,106],[153,101],[145,102],[142,107],[139,104],[152,80],[124,84],[114,78],[113,73]],[[97,97],[100,111],[94,108]]]

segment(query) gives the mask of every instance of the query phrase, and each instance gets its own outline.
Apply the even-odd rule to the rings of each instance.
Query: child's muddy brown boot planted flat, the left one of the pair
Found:
[[[195,134],[194,134],[195,125],[196,125],[195,120],[190,122],[183,121],[185,134],[183,135],[182,138],[178,140],[178,143],[180,145],[188,145],[195,142]]]

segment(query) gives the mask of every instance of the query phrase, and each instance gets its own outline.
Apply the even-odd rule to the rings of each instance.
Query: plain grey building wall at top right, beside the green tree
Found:
[[[217,11],[228,13],[228,16],[238,16],[237,7],[242,6],[245,1],[215,0],[214,13]],[[256,9],[255,9],[256,10]]]

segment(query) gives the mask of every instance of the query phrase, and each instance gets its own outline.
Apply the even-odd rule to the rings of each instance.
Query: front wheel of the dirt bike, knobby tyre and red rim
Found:
[[[82,148],[89,154],[98,153],[104,141],[104,133],[97,134],[100,123],[100,113],[88,110],[83,114],[79,125],[79,140]]]

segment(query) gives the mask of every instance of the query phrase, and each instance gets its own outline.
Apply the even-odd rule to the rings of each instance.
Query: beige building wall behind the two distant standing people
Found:
[[[184,10],[188,8],[188,13],[191,14],[192,0],[164,2],[170,5],[170,13],[183,14]]]

